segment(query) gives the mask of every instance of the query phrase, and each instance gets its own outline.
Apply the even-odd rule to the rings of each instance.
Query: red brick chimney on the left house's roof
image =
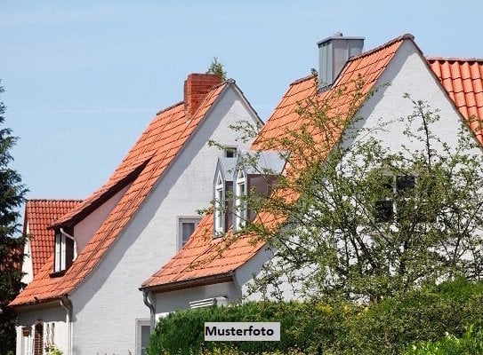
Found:
[[[192,116],[214,85],[221,83],[220,75],[190,74],[184,81],[184,112]]]

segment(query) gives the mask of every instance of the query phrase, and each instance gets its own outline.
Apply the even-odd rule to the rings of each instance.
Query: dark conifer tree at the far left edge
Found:
[[[4,89],[0,87],[0,92]],[[4,125],[4,103],[0,103],[0,125]],[[17,141],[12,130],[0,128],[0,354],[15,351],[16,315],[8,304],[18,295],[23,245],[26,236],[15,237],[20,232],[18,209],[27,192],[17,171],[9,168],[12,162],[10,150]]]

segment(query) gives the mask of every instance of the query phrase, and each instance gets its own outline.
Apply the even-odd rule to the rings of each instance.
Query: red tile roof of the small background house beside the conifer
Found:
[[[54,233],[47,227],[76,207],[80,200],[28,200],[23,233],[30,234],[30,258],[34,277],[53,252]]]

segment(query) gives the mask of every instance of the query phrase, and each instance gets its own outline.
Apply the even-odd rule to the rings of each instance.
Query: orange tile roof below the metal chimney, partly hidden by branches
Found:
[[[350,96],[357,91],[358,77],[364,79],[360,91],[363,94],[371,91],[374,83],[405,40],[413,41],[414,37],[411,35],[400,36],[381,47],[349,60],[333,87],[319,94],[320,99],[329,100],[329,102],[336,100],[334,102],[336,112],[334,111],[332,114],[341,116],[350,114]],[[313,98],[316,94],[317,87],[314,79],[315,77],[310,75],[290,84],[288,91],[255,139],[254,149],[276,149],[278,148],[277,142],[286,135],[287,130],[297,130],[300,127],[301,116],[296,110],[300,103]],[[338,95],[341,88],[345,88],[342,97]],[[292,195],[289,198],[296,198],[296,196]],[[283,222],[284,217],[274,217],[268,213],[262,213],[261,218],[265,222],[269,221],[268,225],[275,225],[277,228],[277,225]],[[213,216],[208,215],[198,225],[189,242],[161,270],[146,280],[142,284],[142,288],[152,288],[157,292],[164,292],[176,288],[197,286],[210,277],[213,282],[216,282],[214,276],[229,275],[230,272],[234,272],[255,256],[264,246],[264,242],[254,243],[254,239],[249,236],[231,238],[230,233],[227,235],[229,243],[225,245],[221,238],[213,239],[212,228]],[[230,241],[230,238],[234,241]]]

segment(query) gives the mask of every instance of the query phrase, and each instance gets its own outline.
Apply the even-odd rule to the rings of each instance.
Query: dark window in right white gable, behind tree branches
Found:
[[[394,217],[404,217],[405,211],[414,207],[407,198],[407,192],[414,190],[415,177],[410,175],[387,176],[382,182],[387,189],[388,198],[375,204],[375,219],[377,222],[391,222]]]

